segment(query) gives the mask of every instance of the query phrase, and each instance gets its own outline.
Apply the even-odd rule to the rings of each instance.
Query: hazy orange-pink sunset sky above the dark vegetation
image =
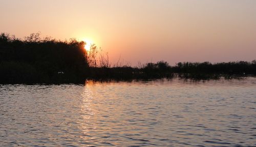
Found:
[[[0,33],[91,40],[112,65],[256,60],[254,0],[0,0]]]

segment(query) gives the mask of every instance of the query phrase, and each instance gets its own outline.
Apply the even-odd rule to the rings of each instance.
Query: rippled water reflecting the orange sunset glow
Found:
[[[0,85],[0,146],[256,146],[256,78]]]

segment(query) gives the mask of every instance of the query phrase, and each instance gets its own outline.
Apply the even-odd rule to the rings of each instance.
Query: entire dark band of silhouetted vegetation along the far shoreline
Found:
[[[256,61],[211,64],[167,62],[111,65],[108,54],[84,49],[85,42],[70,39],[60,41],[31,34],[23,40],[0,35],[0,83],[70,83],[94,80],[131,80],[179,77],[183,79],[219,79],[256,75]]]

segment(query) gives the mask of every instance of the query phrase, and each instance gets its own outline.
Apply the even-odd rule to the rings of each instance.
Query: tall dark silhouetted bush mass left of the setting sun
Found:
[[[84,42],[0,35],[0,82],[76,82],[89,70]],[[27,75],[27,76],[26,76]]]

